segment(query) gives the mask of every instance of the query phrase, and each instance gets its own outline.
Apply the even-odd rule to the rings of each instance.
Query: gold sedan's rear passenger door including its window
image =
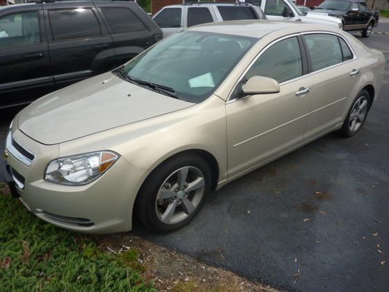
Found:
[[[309,139],[343,123],[361,74],[342,37],[327,33],[307,33],[303,37],[311,61],[312,103],[305,131]]]

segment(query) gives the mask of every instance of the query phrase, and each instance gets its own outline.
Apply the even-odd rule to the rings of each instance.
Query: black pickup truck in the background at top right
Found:
[[[368,10],[365,0],[325,0],[313,12],[341,18],[343,30],[362,31],[363,37],[370,37],[379,21],[379,11]]]

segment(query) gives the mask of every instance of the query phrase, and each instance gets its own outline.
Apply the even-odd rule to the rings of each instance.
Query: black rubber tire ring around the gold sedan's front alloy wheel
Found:
[[[156,215],[156,195],[158,194],[159,188],[169,175],[185,166],[194,166],[203,173],[205,180],[203,197],[194,212],[192,212],[192,214],[190,214],[185,220],[177,224],[165,224],[161,222]],[[197,153],[172,157],[170,160],[167,160],[160,166],[156,167],[156,169],[150,173],[143,183],[143,187],[138,194],[136,202],[136,214],[143,225],[154,232],[167,233],[178,230],[188,224],[203,206],[206,196],[210,193],[211,180],[212,175],[210,167],[207,162],[203,160],[203,157],[197,155]]]

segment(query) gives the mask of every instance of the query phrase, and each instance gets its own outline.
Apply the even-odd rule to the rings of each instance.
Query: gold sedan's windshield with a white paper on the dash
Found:
[[[140,86],[149,83],[148,89],[158,90],[158,85],[174,92],[174,97],[201,103],[255,42],[251,37],[184,31],[136,56],[122,72]]]

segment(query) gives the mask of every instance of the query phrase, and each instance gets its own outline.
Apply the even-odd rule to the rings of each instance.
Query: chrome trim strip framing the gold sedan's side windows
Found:
[[[233,88],[230,90],[230,93],[228,94],[228,98],[227,98],[227,101],[226,101],[226,104],[228,103],[233,103],[235,101],[238,101],[238,100],[242,100],[242,99],[245,99],[245,98],[248,98],[250,97],[251,95],[249,96],[246,96],[244,98],[233,98],[231,99],[232,97],[232,94],[233,92],[235,91],[235,88],[237,87],[237,84],[240,82],[240,80],[242,80],[243,76],[246,75],[247,71],[251,69],[251,67],[253,67],[254,63],[257,62],[258,58],[260,58],[260,56],[267,50],[269,49],[269,47],[273,46],[273,44],[276,44],[278,42],[281,42],[282,40],[286,40],[287,38],[289,37],[297,37],[298,35],[312,35],[312,34],[324,34],[324,35],[336,35],[337,37],[341,37],[342,40],[345,41],[345,43],[347,44],[348,48],[350,49],[350,51],[352,52],[352,59],[351,60],[347,60],[347,61],[343,61],[341,63],[338,63],[338,64],[334,64],[332,66],[329,66],[329,67],[325,67],[323,69],[320,69],[320,70],[316,70],[316,71],[312,71],[312,72],[309,72],[308,74],[305,74],[305,75],[302,75],[302,76],[299,76],[297,78],[293,78],[291,80],[287,80],[287,81],[284,81],[282,83],[280,83],[280,87],[282,85],[286,85],[288,83],[291,83],[291,82],[294,82],[294,81],[297,81],[301,78],[306,78],[308,76],[311,76],[311,75],[314,75],[316,73],[319,73],[321,71],[325,71],[325,70],[328,70],[328,69],[332,69],[338,65],[343,65],[343,64],[346,64],[347,62],[352,62],[354,60],[357,60],[358,59],[358,56],[356,55],[354,49],[352,49],[352,46],[350,45],[350,42],[348,42],[345,37],[343,37],[343,35],[340,35],[338,33],[333,33],[331,31],[305,31],[305,32],[302,32],[302,33],[293,33],[291,35],[284,35],[283,37],[280,37],[278,38],[277,40],[273,40],[273,42],[271,42],[270,44],[267,44],[256,56],[255,58],[250,62],[250,64],[248,65],[248,67],[243,71],[243,73],[241,74],[241,76],[239,76],[239,78],[237,78],[237,81],[235,82],[235,85],[233,86]],[[340,46],[340,44],[339,44]],[[309,53],[307,51],[307,53]]]

